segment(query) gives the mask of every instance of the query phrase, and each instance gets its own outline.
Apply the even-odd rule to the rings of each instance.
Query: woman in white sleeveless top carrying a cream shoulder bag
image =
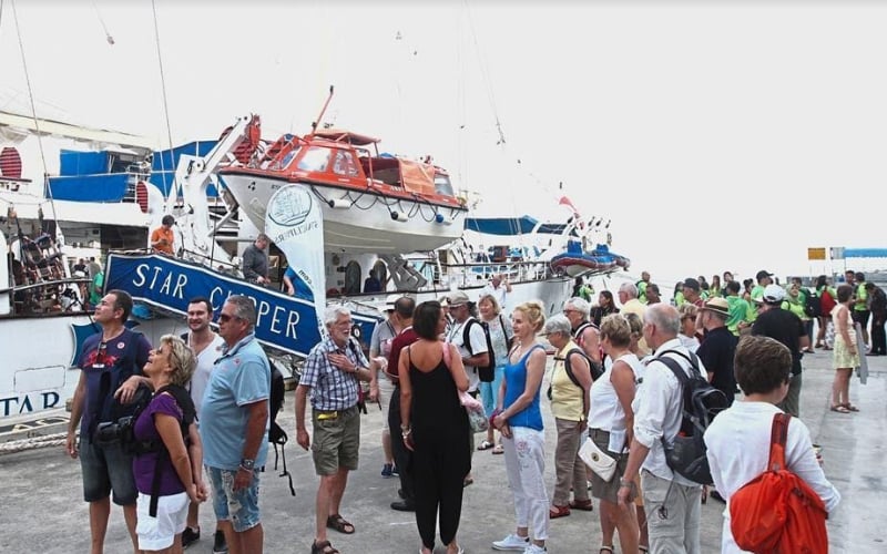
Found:
[[[641,370],[640,360],[629,351],[631,339],[631,327],[624,316],[614,314],[603,318],[601,347],[613,365],[591,386],[589,437],[616,460],[615,475],[625,472],[629,460],[628,445],[634,425],[631,403]],[[613,553],[613,531],[618,531],[622,552],[636,553],[640,537],[636,512],[632,503],[619,503],[619,486],[618,479],[606,482],[591,473],[591,493],[601,501],[601,552]]]

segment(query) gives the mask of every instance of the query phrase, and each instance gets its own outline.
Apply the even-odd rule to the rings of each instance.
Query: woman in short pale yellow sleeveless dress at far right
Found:
[[[835,349],[832,352],[832,366],[835,368],[835,381],[832,384],[832,411],[858,412],[859,409],[850,403],[850,377],[853,369],[859,366],[856,330],[850,317],[850,306],[856,301],[853,285],[838,287],[837,301],[837,306],[832,310],[832,321],[835,326]]]

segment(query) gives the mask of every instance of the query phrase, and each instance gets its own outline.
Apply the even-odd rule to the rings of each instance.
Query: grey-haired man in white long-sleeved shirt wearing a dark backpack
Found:
[[[640,471],[650,552],[699,554],[702,486],[669,468],[662,443],[677,435],[684,400],[681,382],[661,358],[667,356],[689,376],[705,376],[699,358],[681,346],[680,325],[677,310],[667,304],[650,306],[644,316],[644,338],[656,355],[648,362],[639,389],[634,437],[620,479],[619,502],[629,502],[636,494],[634,478]]]

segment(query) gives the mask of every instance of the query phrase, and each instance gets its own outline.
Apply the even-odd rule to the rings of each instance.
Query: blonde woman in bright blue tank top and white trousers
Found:
[[[492,543],[493,550],[498,551],[523,548],[524,554],[546,552],[549,523],[544,482],[546,435],[539,406],[539,390],[546,372],[546,349],[537,339],[546,324],[542,310],[541,302],[530,301],[521,304],[511,314],[518,342],[509,355],[499,392],[502,411],[496,414],[492,423],[502,433],[517,531]]]

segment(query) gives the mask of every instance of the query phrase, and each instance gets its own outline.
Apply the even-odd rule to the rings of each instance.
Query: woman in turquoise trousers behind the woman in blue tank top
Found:
[[[492,343],[490,356],[493,357],[493,362],[496,363],[492,381],[480,381],[480,398],[483,402],[483,410],[487,416],[492,416],[493,410],[496,410],[499,389],[502,387],[502,379],[506,375],[509,346],[514,337],[514,330],[508,325],[508,319],[502,316],[501,307],[493,295],[481,295],[478,300],[478,311],[480,312],[481,322],[487,325],[490,330],[490,342]],[[495,439],[495,430],[490,427],[487,429],[487,440],[480,443],[478,450],[492,449],[493,454],[504,452],[501,441],[497,444]]]

